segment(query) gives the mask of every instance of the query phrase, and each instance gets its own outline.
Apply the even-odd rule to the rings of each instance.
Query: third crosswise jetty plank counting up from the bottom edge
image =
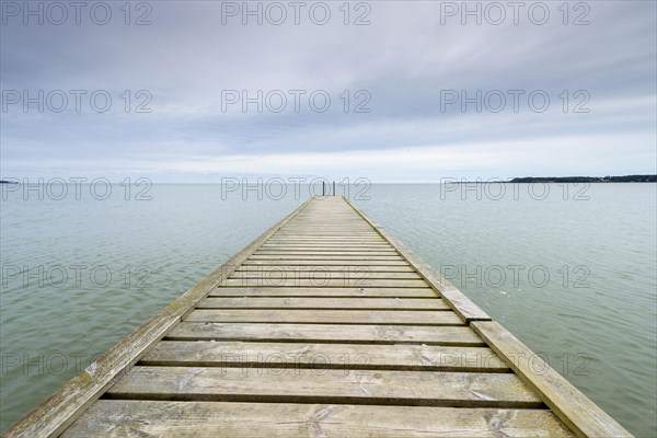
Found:
[[[141,366],[510,372],[493,350],[437,345],[158,343]]]

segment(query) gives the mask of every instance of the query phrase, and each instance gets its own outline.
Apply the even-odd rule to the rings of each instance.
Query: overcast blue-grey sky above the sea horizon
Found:
[[[2,1],[2,177],[657,172],[654,1],[124,3]]]

